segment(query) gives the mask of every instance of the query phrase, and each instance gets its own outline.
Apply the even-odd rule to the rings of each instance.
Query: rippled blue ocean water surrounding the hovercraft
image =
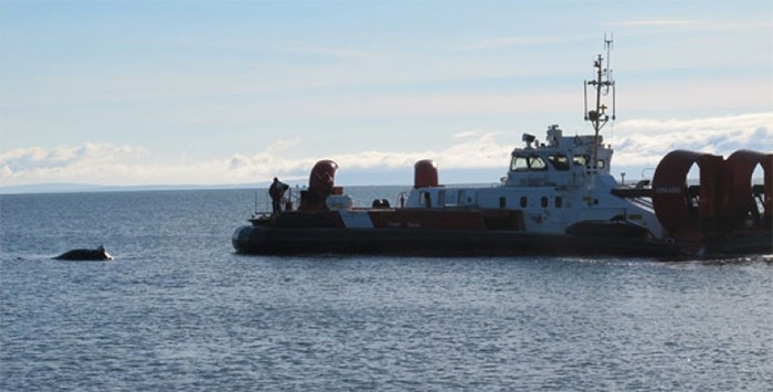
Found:
[[[773,385],[770,256],[236,255],[254,205],[252,190],[1,195],[0,390]],[[99,244],[116,259],[51,259]]]

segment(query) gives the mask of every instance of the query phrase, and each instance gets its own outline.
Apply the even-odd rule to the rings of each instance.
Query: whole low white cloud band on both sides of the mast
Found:
[[[697,119],[636,119],[614,129],[614,170],[655,167],[675,149],[729,156],[739,149],[773,151],[773,113]],[[515,135],[517,136],[517,135]],[[410,173],[420,159],[434,159],[444,169],[506,170],[520,142],[512,133],[469,130],[455,135],[444,149],[363,150],[290,158],[286,151],[299,139],[277,140],[262,151],[220,159],[170,159],[147,147],[84,144],[56,148],[30,147],[0,152],[3,186],[78,182],[103,186],[229,184],[268,181],[279,176],[303,183],[317,160],[332,159],[347,170]],[[410,174],[409,174],[410,176]]]

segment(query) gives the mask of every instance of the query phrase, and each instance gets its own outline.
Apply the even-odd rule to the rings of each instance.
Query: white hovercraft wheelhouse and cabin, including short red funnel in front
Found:
[[[406,209],[480,209],[517,211],[517,226],[528,233],[647,237],[660,235],[652,211],[615,197],[610,174],[612,149],[601,137],[564,137],[553,125],[546,144],[523,135],[499,187],[446,188],[435,181],[432,161],[416,165]],[[595,157],[595,160],[593,160]],[[428,179],[428,180],[427,180]]]

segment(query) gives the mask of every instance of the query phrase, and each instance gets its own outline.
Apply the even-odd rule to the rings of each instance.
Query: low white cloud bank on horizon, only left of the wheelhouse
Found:
[[[443,168],[505,167],[511,146],[496,133],[479,133],[444,150],[364,150],[330,156],[287,158],[299,140],[277,140],[256,153],[192,160],[152,155],[147,148],[85,144],[46,149],[30,147],[0,153],[3,186],[76,182],[102,186],[227,184],[263,182],[274,176],[301,181],[317,160],[332,159],[346,170],[410,172],[420,159],[433,158]]]

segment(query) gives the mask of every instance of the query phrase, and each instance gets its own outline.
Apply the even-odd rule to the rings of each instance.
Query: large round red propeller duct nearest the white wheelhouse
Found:
[[[660,224],[674,235],[699,235],[702,229],[714,229],[721,214],[722,157],[676,150],[666,155],[653,176],[653,206]],[[700,168],[699,205],[688,205],[687,173],[693,163]]]

